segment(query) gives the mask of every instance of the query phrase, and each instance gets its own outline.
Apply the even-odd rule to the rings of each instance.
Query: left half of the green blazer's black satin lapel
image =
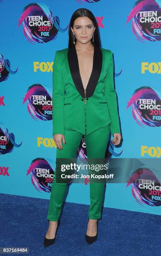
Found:
[[[70,72],[72,75],[72,79],[75,87],[82,97],[84,97],[84,88],[82,86],[82,80],[79,73],[79,64],[77,59],[77,52],[75,50],[75,46],[69,47],[68,49],[68,63]]]

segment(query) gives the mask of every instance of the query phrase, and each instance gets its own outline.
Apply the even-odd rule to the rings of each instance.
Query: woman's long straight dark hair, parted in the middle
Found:
[[[86,8],[77,9],[71,17],[71,20],[70,20],[70,23],[69,23],[69,29],[68,29],[68,34],[69,34],[68,47],[73,46],[73,39],[74,39],[75,42],[77,42],[77,39],[73,36],[72,30],[71,30],[71,27],[73,28],[73,26],[74,26],[74,20],[76,20],[79,17],[84,17],[84,16],[86,16],[90,20],[92,20],[93,25],[95,26],[94,43],[92,42],[92,39],[91,39],[91,43],[96,44],[98,47],[101,47],[100,31],[98,29],[97,20],[96,20],[95,16],[93,15],[93,13],[90,10],[86,9]]]

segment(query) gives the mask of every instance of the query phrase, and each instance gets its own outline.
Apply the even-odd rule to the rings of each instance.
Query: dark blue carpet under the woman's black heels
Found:
[[[66,202],[56,242],[43,248],[49,200],[0,194],[0,205],[0,247],[29,247],[27,255],[34,256],[161,255],[159,215],[104,208],[97,241],[87,244],[89,205]]]

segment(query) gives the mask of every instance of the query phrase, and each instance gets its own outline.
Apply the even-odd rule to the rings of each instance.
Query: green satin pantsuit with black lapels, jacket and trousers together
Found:
[[[56,51],[53,65],[53,135],[64,134],[56,159],[74,158],[84,135],[87,160],[104,159],[111,133],[120,133],[112,51],[94,48],[92,74],[84,91],[75,46]],[[56,161],[57,163],[57,161]],[[58,165],[56,164],[56,172]],[[56,174],[55,172],[55,174]],[[47,219],[57,221],[67,183],[52,182]],[[105,184],[90,181],[89,218],[100,219]]]

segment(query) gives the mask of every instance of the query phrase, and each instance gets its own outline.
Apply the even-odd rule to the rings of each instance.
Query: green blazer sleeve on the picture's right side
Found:
[[[114,65],[113,65],[112,51],[110,51],[110,61],[107,68],[107,75],[105,77],[105,98],[107,100],[107,105],[110,113],[111,134],[120,133],[118,104],[117,104],[116,92],[114,89],[113,68],[114,68]]]

